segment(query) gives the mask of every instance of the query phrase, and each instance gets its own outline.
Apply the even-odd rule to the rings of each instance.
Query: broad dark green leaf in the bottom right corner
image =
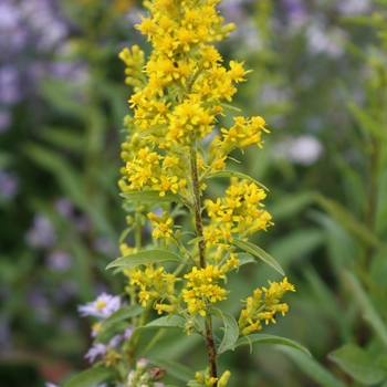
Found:
[[[328,358],[336,363],[353,379],[373,386],[386,379],[387,373],[376,365],[375,359],[354,344],[345,345],[331,354]]]

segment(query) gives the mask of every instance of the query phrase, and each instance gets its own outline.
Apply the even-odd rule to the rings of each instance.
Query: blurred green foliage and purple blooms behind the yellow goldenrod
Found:
[[[271,130],[237,166],[270,188],[275,227],[254,242],[297,291],[286,317],[262,333],[313,355],[264,345],[228,353],[220,368],[232,386],[325,386],[318,372],[367,385],[328,354],[353,343],[386,356],[363,315],[372,305],[387,317],[387,3],[224,0],[219,10],[237,24],[218,44],[224,62],[253,70],[234,104]],[[132,90],[117,54],[145,46],[133,27],[140,11],[125,0],[0,3],[2,387],[62,384],[87,367],[90,322],[76,305],[123,292],[124,279],[105,271],[125,228],[117,180]],[[263,264],[241,270],[227,307],[237,313],[268,279],[280,280]],[[166,341],[170,359],[206,365],[195,339]]]

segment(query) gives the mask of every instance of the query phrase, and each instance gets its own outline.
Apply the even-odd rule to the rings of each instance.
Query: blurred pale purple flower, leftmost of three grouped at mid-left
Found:
[[[32,228],[25,234],[25,242],[32,248],[50,248],[56,241],[56,236],[50,219],[43,215],[35,215]]]

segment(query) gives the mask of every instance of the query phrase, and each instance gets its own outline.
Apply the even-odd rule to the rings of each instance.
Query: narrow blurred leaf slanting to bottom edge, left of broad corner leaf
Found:
[[[318,362],[306,356],[300,351],[290,347],[280,347],[312,380],[321,387],[345,387],[333,374],[324,368]]]

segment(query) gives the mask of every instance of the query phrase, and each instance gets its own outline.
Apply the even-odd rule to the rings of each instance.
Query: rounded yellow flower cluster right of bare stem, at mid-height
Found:
[[[220,239],[232,242],[232,234],[245,238],[272,226],[271,215],[263,210],[262,200],[266,194],[254,182],[231,179],[226,198],[206,200],[205,206],[211,223],[205,228],[203,236],[208,248],[218,244]]]

